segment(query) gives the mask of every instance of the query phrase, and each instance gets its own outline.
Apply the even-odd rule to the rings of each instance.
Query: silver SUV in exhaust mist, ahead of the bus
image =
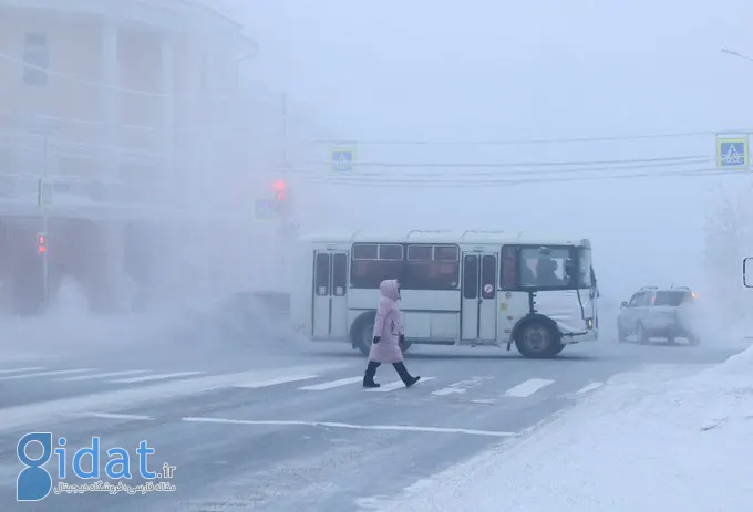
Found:
[[[666,337],[669,343],[683,337],[698,346],[701,341],[691,326],[694,310],[695,294],[687,286],[644,286],[621,304],[617,336],[625,343],[636,335],[640,344],[652,337]]]

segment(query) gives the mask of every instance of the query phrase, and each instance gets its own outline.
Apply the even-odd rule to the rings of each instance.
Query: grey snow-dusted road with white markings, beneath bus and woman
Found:
[[[39,511],[368,510],[374,497],[525,432],[618,374],[647,365],[692,373],[739,348],[605,341],[540,362],[420,348],[408,361],[423,377],[415,388],[391,385],[398,377],[382,367],[383,387],[370,391],[360,387],[363,361],[332,345],[288,355],[152,347],[0,361],[0,504],[14,502],[20,437],[52,431],[66,437],[69,453],[101,436],[102,467],[106,448],[133,452],[147,440],[154,464],[176,467],[176,490],[51,494]],[[53,477],[55,467],[53,457]]]

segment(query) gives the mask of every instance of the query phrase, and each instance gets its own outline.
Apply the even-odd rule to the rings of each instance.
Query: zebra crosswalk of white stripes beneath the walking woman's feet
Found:
[[[178,368],[173,368],[178,369]],[[313,393],[364,393],[384,395],[400,393],[404,389],[402,380],[384,375],[381,386],[363,389],[362,374],[342,375],[343,370],[334,374],[313,370],[311,373],[287,373],[280,368],[279,373],[260,376],[257,379],[228,379],[227,387],[238,393],[254,389],[280,389],[286,394]],[[107,390],[118,387],[155,386],[163,383],[189,383],[207,377],[233,377],[237,372],[209,372],[199,369],[183,369],[179,372],[153,370],[146,368],[115,369],[115,368],[54,368],[43,366],[0,367],[0,385],[33,384],[38,388],[54,388],[60,390],[65,386],[85,386],[86,391]],[[516,382],[517,380],[517,382]],[[556,396],[577,398],[598,389],[604,383],[586,378],[573,377],[558,379],[547,375],[526,375],[526,378],[509,376],[422,376],[414,387],[415,395],[432,399],[457,400],[468,397],[467,401],[497,403],[499,400],[525,399],[538,396]]]

